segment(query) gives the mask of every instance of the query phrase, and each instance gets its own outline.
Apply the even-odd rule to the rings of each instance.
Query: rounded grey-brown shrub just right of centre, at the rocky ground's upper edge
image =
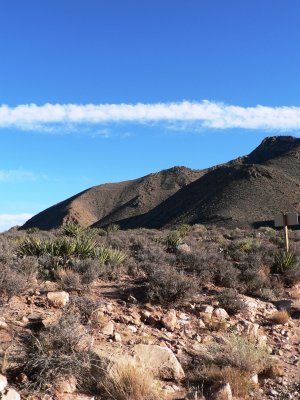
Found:
[[[165,265],[154,268],[148,277],[147,298],[159,304],[178,304],[190,300],[199,290],[194,277]]]

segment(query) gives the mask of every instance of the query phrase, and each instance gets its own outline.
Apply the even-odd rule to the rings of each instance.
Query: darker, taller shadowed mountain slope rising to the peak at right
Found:
[[[124,228],[178,223],[264,224],[280,210],[300,210],[300,139],[265,139],[249,156],[209,170]]]

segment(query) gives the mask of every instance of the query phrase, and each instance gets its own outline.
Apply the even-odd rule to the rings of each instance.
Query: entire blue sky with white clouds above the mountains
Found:
[[[0,230],[300,130],[298,0],[0,4]]]

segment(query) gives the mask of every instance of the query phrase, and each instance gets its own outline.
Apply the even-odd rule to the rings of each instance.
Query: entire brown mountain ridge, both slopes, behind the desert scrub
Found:
[[[207,170],[174,167],[127,182],[92,187],[39,213],[23,228],[82,226],[161,228],[180,223],[270,225],[299,211],[300,139],[266,138],[248,156]]]

